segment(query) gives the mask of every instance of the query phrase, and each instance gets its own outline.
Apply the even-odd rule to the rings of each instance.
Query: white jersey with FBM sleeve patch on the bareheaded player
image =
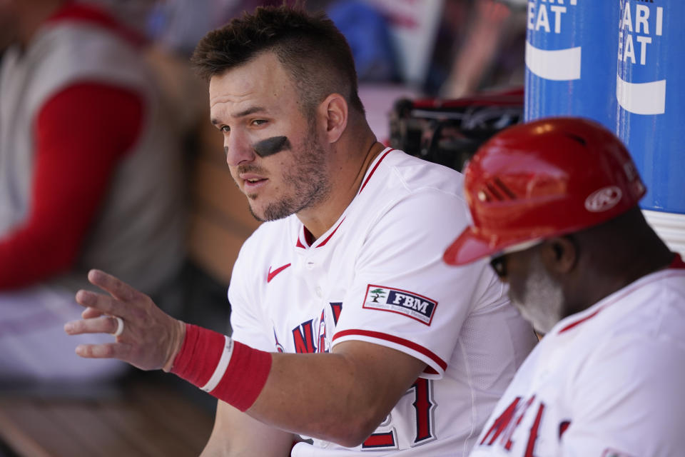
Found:
[[[245,241],[228,292],[235,340],[287,353],[367,341],[427,363],[361,446],[315,440],[293,456],[462,456],[475,443],[537,339],[485,261],[442,261],[467,224],[462,184],[457,171],[386,149],[316,241],[296,216]]]

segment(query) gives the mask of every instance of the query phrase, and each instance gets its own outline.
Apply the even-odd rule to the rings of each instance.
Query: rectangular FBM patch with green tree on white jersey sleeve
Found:
[[[404,314],[430,326],[437,301],[399,288],[369,284],[362,308]]]

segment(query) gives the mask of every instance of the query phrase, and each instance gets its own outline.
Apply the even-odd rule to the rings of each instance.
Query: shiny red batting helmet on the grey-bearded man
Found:
[[[473,225],[445,251],[452,265],[608,221],[646,191],[621,141],[578,118],[539,119],[499,132],[465,175]]]

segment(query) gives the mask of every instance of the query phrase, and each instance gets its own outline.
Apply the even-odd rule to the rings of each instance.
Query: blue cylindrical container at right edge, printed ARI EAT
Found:
[[[685,214],[685,0],[620,0],[618,134],[643,209]]]

